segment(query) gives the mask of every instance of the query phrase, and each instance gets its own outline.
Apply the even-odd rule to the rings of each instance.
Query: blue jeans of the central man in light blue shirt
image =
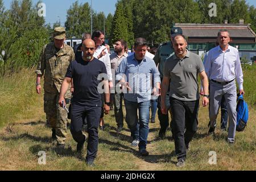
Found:
[[[131,137],[139,140],[139,150],[146,149],[148,136],[148,122],[150,101],[146,102],[130,102],[125,100],[126,122],[131,130]],[[139,110],[139,122],[138,114]]]

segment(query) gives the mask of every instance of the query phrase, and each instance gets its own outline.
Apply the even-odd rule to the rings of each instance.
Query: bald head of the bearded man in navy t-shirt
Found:
[[[94,41],[92,39],[85,39],[84,42],[82,42],[82,59],[85,61],[92,61],[95,49]]]

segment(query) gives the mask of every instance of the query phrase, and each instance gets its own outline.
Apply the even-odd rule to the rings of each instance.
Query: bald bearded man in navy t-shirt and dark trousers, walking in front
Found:
[[[98,150],[98,125],[101,115],[101,93],[105,93],[105,114],[110,110],[110,93],[105,64],[93,57],[95,44],[92,39],[82,43],[82,59],[73,61],[61,85],[59,104],[65,106],[64,94],[73,78],[74,93],[72,98],[71,134],[77,142],[77,152],[81,153],[86,140],[82,134],[82,122],[87,118],[88,145],[86,163],[94,166]],[[102,81],[104,78],[104,81]],[[102,89],[104,86],[104,90]],[[101,91],[101,93],[100,93]]]

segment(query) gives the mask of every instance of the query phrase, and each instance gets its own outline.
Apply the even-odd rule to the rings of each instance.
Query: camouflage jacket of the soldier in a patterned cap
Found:
[[[56,88],[60,93],[61,84],[67,73],[71,61],[75,60],[72,47],[64,44],[64,47],[57,51],[54,43],[44,46],[39,57],[38,68],[35,73],[44,76],[44,91],[56,93]],[[65,98],[71,97],[70,87],[65,94]]]

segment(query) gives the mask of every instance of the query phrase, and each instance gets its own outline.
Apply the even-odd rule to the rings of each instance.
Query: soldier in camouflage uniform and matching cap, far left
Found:
[[[44,46],[39,58],[36,76],[36,92],[41,93],[40,81],[44,76],[44,112],[48,124],[52,127],[52,141],[57,140],[59,148],[65,147],[67,136],[67,111],[58,104],[61,84],[68,66],[75,60],[73,48],[64,44],[65,28],[56,27],[53,32],[54,42]],[[66,107],[69,107],[71,85],[65,94]]]

